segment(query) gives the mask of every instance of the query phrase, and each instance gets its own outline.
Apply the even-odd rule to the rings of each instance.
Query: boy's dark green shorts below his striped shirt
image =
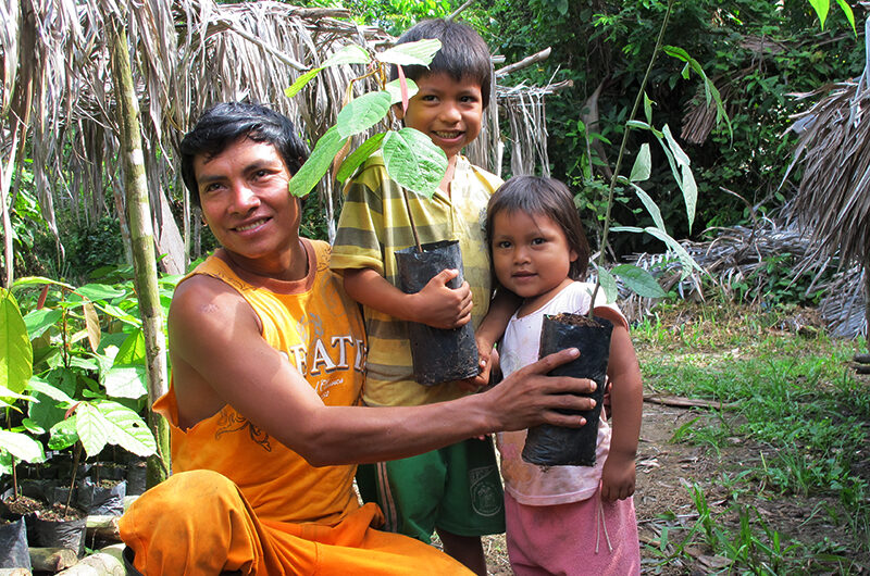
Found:
[[[360,465],[357,485],[365,502],[384,511],[386,530],[426,543],[436,528],[458,536],[505,531],[505,497],[489,437]]]

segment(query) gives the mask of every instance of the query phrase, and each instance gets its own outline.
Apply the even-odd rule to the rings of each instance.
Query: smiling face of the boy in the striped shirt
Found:
[[[417,86],[419,91],[408,102],[405,125],[432,138],[452,161],[481,133],[481,87],[469,78],[456,82],[444,72],[422,76]],[[401,120],[400,105],[397,114]]]

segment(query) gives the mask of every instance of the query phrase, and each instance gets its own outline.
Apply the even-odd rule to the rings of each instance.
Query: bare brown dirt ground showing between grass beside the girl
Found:
[[[712,555],[703,544],[686,550],[693,559],[692,562],[674,561],[658,567],[656,556],[644,546],[657,547],[664,526],[669,527],[670,541],[674,541],[686,534],[675,530],[675,526],[693,526],[696,523],[697,509],[687,489],[694,483],[704,488],[711,514],[732,534],[736,534],[739,526],[736,514],[719,515],[730,508],[732,498],[736,498],[739,502],[755,505],[770,528],[791,538],[811,543],[819,541],[820,535],[824,535],[835,542],[849,542],[847,529],[833,525],[823,512],[824,505],[833,502],[793,496],[760,499],[755,489],[760,487],[751,484],[748,487],[746,484],[736,484],[736,487],[743,488],[736,497],[719,485],[711,487],[711,478],[721,478],[722,474],[734,477],[746,463],[760,461],[763,450],[734,438],[722,450],[721,455],[717,456],[714,452],[710,453],[703,447],[670,442],[680,426],[698,416],[705,417],[705,412],[644,402],[637,455],[637,488],[634,494],[643,574],[670,576],[729,573],[726,559]],[[668,517],[661,517],[662,515]],[[760,528],[757,530],[760,533]],[[787,541],[784,546],[787,546]],[[508,562],[504,535],[486,537],[484,552],[490,575],[513,574]],[[853,569],[850,574],[870,574],[870,568]]]

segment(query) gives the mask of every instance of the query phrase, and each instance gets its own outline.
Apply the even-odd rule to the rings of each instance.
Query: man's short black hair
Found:
[[[198,155],[214,158],[241,138],[275,147],[290,174],[296,174],[308,159],[308,149],[297,136],[290,118],[262,104],[223,102],[206,110],[196,126],[182,139],[182,179],[196,205],[199,187],[194,173]]]

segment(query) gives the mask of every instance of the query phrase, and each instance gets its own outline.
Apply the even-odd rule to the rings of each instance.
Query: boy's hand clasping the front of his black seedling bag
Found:
[[[443,270],[422,290],[409,295],[414,322],[433,328],[459,328],[471,322],[469,283],[463,281],[459,288],[447,286],[458,275],[458,270]]]

